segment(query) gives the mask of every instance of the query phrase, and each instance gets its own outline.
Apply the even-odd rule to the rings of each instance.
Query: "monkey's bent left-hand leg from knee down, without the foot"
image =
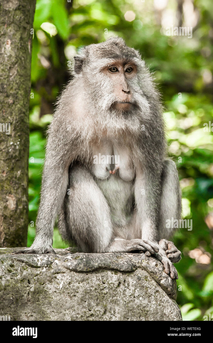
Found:
[[[82,252],[108,252],[112,241],[110,208],[92,175],[76,165],[69,172],[67,236]]]

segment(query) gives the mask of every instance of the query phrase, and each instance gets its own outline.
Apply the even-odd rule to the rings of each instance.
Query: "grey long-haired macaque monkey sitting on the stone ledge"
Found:
[[[79,252],[143,252],[177,279],[181,218],[163,107],[138,50],[120,37],[83,47],[48,128],[36,237],[14,253],[55,253],[53,227]]]

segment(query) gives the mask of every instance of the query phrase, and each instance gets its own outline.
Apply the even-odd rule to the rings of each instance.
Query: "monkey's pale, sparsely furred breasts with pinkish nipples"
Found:
[[[132,181],[135,170],[128,147],[111,141],[103,141],[92,147],[93,164],[91,173],[104,180],[120,177],[124,181]]]

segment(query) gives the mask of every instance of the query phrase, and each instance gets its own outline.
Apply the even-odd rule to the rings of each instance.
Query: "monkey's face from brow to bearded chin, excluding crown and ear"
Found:
[[[140,107],[141,87],[134,60],[99,59],[90,64],[89,71],[88,89],[99,111],[122,115]]]

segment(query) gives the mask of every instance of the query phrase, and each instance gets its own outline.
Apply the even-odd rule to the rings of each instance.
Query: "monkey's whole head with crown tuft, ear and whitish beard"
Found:
[[[149,113],[151,79],[138,51],[123,39],[91,44],[74,57],[74,73],[83,89],[82,102],[96,118],[141,118]],[[125,116],[123,116],[125,115]]]

